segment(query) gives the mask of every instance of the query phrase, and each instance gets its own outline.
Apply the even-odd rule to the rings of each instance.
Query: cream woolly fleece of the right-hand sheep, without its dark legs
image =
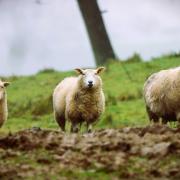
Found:
[[[172,113],[180,109],[180,68],[151,75],[144,85],[146,105],[154,113]]]

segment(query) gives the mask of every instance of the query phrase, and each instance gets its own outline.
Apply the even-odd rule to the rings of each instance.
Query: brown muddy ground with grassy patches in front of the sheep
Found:
[[[34,128],[0,137],[0,179],[94,177],[180,179],[180,129],[149,126],[68,134]]]

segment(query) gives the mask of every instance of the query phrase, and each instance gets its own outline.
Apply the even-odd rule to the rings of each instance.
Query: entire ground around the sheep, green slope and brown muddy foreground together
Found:
[[[106,111],[91,134],[64,134],[53,118],[53,89],[75,72],[2,77],[11,85],[9,118],[0,129],[0,179],[179,179],[179,129],[146,127],[142,97],[149,75],[179,65],[175,56],[107,64]]]

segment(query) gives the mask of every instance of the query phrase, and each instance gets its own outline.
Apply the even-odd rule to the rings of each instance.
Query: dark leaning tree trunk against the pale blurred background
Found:
[[[77,0],[88,31],[91,46],[97,65],[102,65],[108,59],[115,59],[101,11],[96,0]]]

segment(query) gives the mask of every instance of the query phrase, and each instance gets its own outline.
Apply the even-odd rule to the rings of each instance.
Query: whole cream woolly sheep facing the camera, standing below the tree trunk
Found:
[[[82,123],[86,124],[87,132],[92,131],[92,124],[105,110],[105,96],[99,76],[104,69],[77,68],[78,77],[65,78],[56,86],[53,109],[62,131],[65,131],[66,120],[71,122],[71,132],[77,133]]]

